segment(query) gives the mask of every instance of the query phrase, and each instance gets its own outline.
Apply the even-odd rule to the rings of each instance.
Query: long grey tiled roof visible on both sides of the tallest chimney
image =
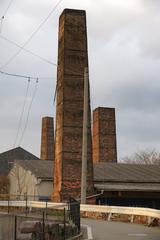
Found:
[[[53,161],[17,161],[23,168],[30,170],[36,177],[53,179]],[[121,163],[98,163],[94,165],[94,182],[95,184],[120,184],[131,183],[133,186],[139,183],[139,187],[143,188],[143,184],[153,183],[160,186],[160,166],[157,165],[136,165]],[[134,183],[134,184],[133,184]],[[119,185],[119,186],[120,186]],[[131,185],[128,187],[131,188]],[[118,185],[117,185],[118,186]],[[146,185],[147,186],[147,185]],[[151,185],[149,185],[151,187]],[[112,185],[113,187],[113,185]],[[136,185],[135,185],[136,187]]]

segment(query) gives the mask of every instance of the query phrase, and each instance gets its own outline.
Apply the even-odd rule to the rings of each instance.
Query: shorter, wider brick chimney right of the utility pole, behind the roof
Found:
[[[115,108],[93,111],[93,162],[117,162]]]

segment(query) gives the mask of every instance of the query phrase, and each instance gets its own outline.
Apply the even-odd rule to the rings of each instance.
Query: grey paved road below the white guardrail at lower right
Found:
[[[95,240],[160,240],[160,227],[82,219],[92,227]]]

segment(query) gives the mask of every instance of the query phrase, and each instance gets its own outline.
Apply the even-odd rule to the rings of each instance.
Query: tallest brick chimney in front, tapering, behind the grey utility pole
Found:
[[[59,20],[54,201],[80,198],[84,68],[88,67],[86,13],[65,9]],[[89,102],[87,194],[93,193]]]

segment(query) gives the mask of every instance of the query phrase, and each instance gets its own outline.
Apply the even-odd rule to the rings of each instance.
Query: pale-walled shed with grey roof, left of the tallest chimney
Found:
[[[53,161],[17,160],[9,173],[10,195],[30,200],[50,199],[53,192]]]

